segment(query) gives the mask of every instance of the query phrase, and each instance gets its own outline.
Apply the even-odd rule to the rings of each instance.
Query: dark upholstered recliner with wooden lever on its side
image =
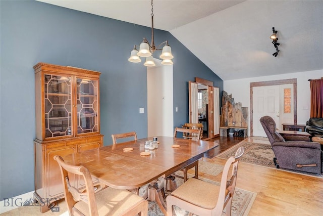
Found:
[[[323,172],[323,152],[320,144],[309,142],[308,137],[282,136],[270,116],[260,118],[260,123],[272,145],[277,168],[286,168],[320,174]]]

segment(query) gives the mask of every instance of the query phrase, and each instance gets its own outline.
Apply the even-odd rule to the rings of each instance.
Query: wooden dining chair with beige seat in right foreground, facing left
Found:
[[[240,147],[234,157],[230,157],[223,169],[220,186],[199,179],[190,178],[167,196],[167,216],[173,214],[173,205],[191,214],[231,215],[231,203],[236,187],[239,159],[244,153]],[[229,175],[229,170],[232,170]]]

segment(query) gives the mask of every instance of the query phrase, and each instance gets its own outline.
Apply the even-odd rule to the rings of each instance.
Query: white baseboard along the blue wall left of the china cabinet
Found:
[[[23,206],[26,200],[33,199],[34,191],[0,201],[0,214]]]

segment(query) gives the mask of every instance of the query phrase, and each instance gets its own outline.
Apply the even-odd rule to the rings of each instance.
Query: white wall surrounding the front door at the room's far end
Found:
[[[272,81],[280,79],[297,79],[297,123],[305,124],[310,115],[310,88],[308,79],[323,77],[323,70],[286,73],[274,76],[261,76],[246,79],[234,79],[223,82],[223,89],[232,94],[235,103],[241,102],[249,109],[248,131],[250,136],[250,82]]]

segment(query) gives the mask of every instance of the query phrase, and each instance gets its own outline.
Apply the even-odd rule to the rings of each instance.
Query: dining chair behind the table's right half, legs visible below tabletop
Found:
[[[186,133],[188,136],[185,137],[184,139],[192,139],[192,140],[199,140],[200,139],[200,130],[199,129],[188,129],[188,128],[180,128],[176,127],[174,131],[174,137],[177,137],[178,133],[177,132],[182,132],[183,134]],[[190,163],[183,169],[183,177],[175,175],[176,177],[183,178],[184,182],[187,181],[187,171],[191,168],[195,167],[195,176],[193,178],[198,178],[198,160],[194,161],[193,163]]]

